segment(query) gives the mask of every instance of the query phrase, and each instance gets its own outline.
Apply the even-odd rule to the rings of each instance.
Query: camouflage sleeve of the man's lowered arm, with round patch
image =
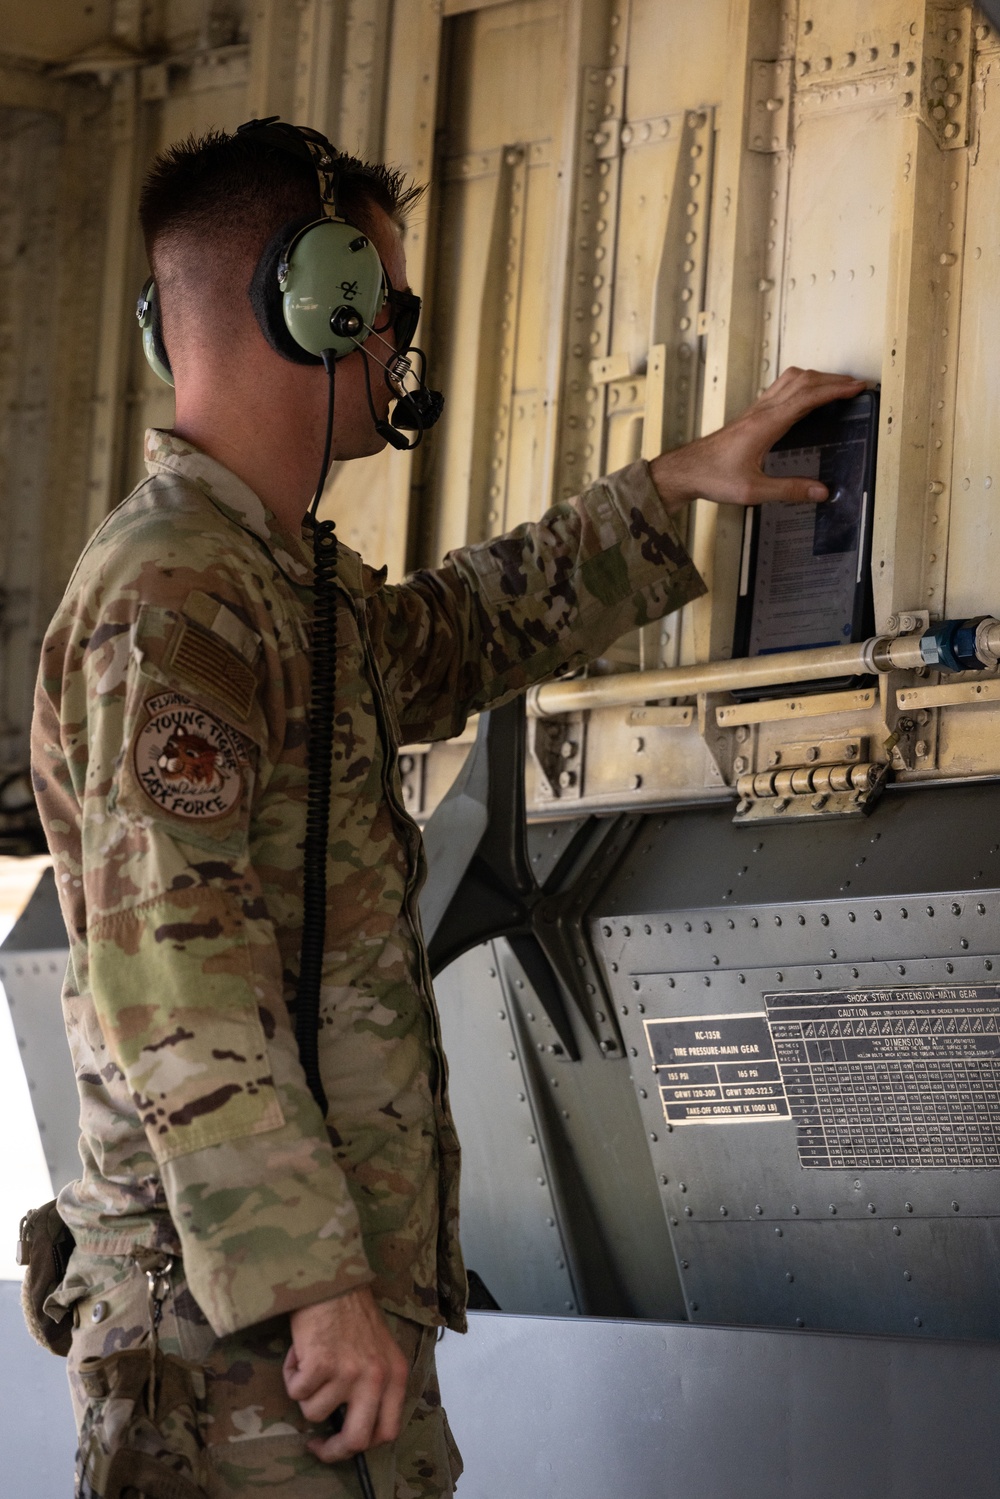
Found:
[[[217,586],[213,597],[189,580],[189,604],[163,607],[150,573],[138,613],[105,591],[63,657],[61,754],[82,806],[81,977],[135,1111],[123,1138],[141,1139],[138,1115],[192,1292],[223,1336],[372,1273],[298,1061],[255,872],[255,839],[273,832],[256,812],[271,773],[259,642]],[[127,1162],[136,1175],[141,1154]]]

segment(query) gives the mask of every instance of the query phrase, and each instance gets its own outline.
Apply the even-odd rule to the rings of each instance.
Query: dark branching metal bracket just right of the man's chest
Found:
[[[580,1057],[568,1000],[603,1055],[622,1057],[585,911],[637,821],[636,815],[589,817],[538,884],[525,817],[525,702],[519,697],[483,714],[472,754],[424,833],[432,868],[421,916],[430,971],[441,973],[469,947],[505,937],[559,1037],[555,1055]]]

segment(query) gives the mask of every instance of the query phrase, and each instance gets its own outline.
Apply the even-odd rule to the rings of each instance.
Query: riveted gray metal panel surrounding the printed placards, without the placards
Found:
[[[886,809],[763,833],[726,811],[649,818],[597,904],[693,1319],[1000,1337],[1000,1171],[805,1166],[795,1120],[672,1126],[654,1076],[651,1019],[997,982],[999,788],[897,794]],[[966,1105],[945,1093],[943,1106]]]

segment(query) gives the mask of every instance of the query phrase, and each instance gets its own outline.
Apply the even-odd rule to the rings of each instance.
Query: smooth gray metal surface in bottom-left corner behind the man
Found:
[[[4,1499],[67,1499],[75,1453],[66,1360],[28,1337],[21,1285],[0,1280],[0,1493]]]

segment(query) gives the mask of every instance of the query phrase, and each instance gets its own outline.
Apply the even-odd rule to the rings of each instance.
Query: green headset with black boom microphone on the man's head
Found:
[[[316,172],[324,210],[319,219],[307,216],[282,225],[265,246],[249,288],[261,333],[283,358],[297,364],[325,364],[330,372],[336,360],[375,337],[385,354],[378,357],[366,349],[364,378],[372,420],[393,447],[411,447],[399,429],[415,430],[418,442],[424,429],[441,415],[444,397],[426,387],[426,361],[420,349],[412,349],[420,360],[420,373],[414,376],[417,388],[406,390],[403,384],[414,373],[406,355],[420,318],[420,298],[391,286],[367,234],[339,211],[340,154],[318,130],[286,124],[277,117],[249,120],[237,129],[237,135],[306,160]],[[387,307],[390,319],[378,327],[378,318]],[[153,277],[142,286],[136,318],[147,363],[172,385]],[[393,343],[384,337],[390,327]],[[375,412],[369,357],[381,366],[396,396],[391,426]]]

